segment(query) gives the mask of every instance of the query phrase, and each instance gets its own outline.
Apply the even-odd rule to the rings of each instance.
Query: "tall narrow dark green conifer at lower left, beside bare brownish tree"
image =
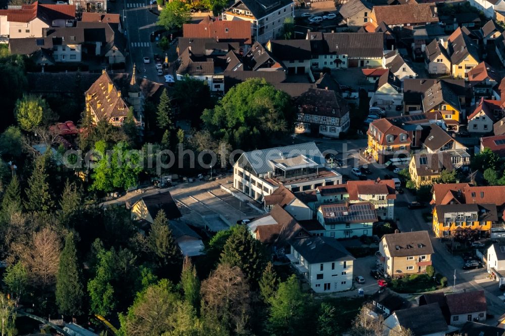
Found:
[[[90,309],[92,313],[108,315],[114,311],[117,304],[111,284],[114,279],[114,252],[102,250],[97,258],[95,276],[88,282]]]

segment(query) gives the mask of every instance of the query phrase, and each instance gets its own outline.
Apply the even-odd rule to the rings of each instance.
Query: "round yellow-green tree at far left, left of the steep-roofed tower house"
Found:
[[[25,131],[32,131],[39,125],[48,125],[55,120],[53,111],[40,96],[24,95],[16,102],[16,119]]]

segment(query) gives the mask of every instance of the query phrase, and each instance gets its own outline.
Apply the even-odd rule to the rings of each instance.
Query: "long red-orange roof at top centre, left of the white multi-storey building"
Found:
[[[183,36],[189,38],[219,38],[226,41],[240,41],[252,44],[249,21],[211,21],[209,23],[186,23],[182,27]]]

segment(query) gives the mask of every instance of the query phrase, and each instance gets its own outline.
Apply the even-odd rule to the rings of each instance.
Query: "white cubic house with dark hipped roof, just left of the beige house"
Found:
[[[341,292],[351,289],[355,258],[335,239],[311,237],[290,241],[287,257],[294,268],[305,276],[316,293]]]

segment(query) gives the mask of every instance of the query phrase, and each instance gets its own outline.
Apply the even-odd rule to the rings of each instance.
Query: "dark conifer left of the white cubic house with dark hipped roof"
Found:
[[[250,286],[257,288],[267,260],[260,241],[251,236],[246,226],[238,226],[226,241],[220,262],[238,266]]]

